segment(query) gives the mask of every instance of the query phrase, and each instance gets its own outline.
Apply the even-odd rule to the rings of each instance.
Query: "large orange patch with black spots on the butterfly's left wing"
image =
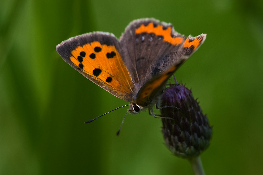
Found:
[[[114,46],[101,45],[95,41],[78,46],[71,54],[71,62],[84,73],[118,91],[132,94],[131,76]]]

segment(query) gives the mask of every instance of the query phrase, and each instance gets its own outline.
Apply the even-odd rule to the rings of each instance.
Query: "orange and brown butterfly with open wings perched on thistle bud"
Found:
[[[106,32],[86,33],[58,44],[58,54],[84,77],[138,114],[158,102],[166,81],[205,41],[185,37],[155,19],[132,21],[118,40]]]

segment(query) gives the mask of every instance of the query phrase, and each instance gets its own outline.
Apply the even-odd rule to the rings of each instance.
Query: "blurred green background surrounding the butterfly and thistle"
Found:
[[[161,121],[128,104],[58,55],[60,42],[105,31],[120,37],[154,17],[185,35],[207,33],[176,72],[213,125],[206,174],[262,174],[263,1],[0,2],[0,174],[192,174],[164,145]]]

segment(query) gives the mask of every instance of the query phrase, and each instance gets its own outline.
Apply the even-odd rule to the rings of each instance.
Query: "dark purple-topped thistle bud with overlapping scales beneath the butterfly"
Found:
[[[162,107],[161,115],[166,117],[162,118],[162,133],[170,151],[191,158],[209,147],[212,128],[191,90],[180,84],[170,85],[162,94]]]

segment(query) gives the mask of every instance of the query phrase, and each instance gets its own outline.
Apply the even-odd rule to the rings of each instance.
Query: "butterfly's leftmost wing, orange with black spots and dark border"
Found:
[[[111,94],[131,101],[133,83],[113,34],[95,32],[72,37],[56,47],[74,69]]]

